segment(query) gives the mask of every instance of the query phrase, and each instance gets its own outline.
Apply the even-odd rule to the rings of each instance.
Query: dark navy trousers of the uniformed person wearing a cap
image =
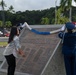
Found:
[[[66,75],[76,75],[76,60],[75,56],[64,55]]]

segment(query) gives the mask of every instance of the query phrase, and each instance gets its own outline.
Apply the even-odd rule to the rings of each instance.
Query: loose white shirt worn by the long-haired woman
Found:
[[[19,48],[21,48],[21,45],[19,43],[19,37],[15,36],[13,41],[10,42],[6,46],[6,48],[5,48],[4,52],[3,52],[3,55],[7,56],[7,55],[13,54],[15,57],[17,57],[17,51],[18,51]]]

